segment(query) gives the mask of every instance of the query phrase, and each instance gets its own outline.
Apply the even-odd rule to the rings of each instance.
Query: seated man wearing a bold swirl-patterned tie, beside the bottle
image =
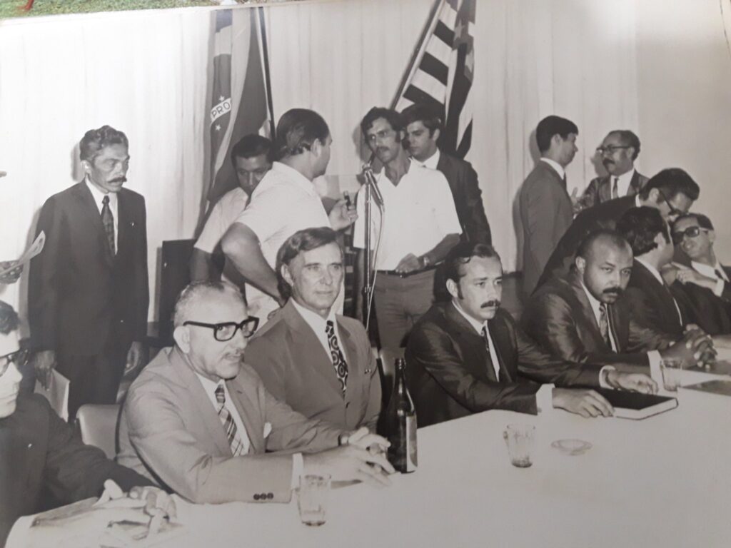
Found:
[[[343,250],[330,227],[300,230],[279,248],[279,292],[288,298],[251,338],[246,361],[267,391],[295,411],[345,430],[376,430],[381,381],[363,324],[336,314]]]

